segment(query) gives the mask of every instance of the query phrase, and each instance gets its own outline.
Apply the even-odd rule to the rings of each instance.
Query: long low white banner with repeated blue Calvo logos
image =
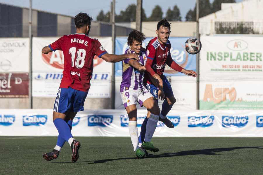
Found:
[[[50,109],[1,109],[0,136],[58,136]],[[147,110],[140,109],[137,126]],[[263,137],[262,110],[172,110],[174,128],[158,122],[154,137]],[[73,120],[73,136],[129,136],[126,110],[84,110]],[[21,132],[23,131],[23,132]]]

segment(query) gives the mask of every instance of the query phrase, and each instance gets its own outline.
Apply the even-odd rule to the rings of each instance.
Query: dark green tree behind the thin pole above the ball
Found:
[[[204,17],[211,13],[209,0],[199,0],[199,17]],[[196,21],[196,3],[194,10],[189,10],[186,14],[186,21]]]

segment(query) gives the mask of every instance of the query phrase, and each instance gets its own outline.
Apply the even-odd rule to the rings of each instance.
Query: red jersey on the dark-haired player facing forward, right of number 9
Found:
[[[170,54],[171,43],[169,40],[166,44],[161,44],[159,43],[157,37],[153,38],[149,41],[146,49],[148,55],[146,70],[151,74],[151,76],[158,74],[161,78],[163,78],[163,72],[166,64],[179,72],[183,69],[172,59]],[[149,77],[147,77],[147,83],[152,84]]]

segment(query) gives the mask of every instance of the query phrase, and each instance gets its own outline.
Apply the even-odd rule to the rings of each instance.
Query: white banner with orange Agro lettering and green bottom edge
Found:
[[[263,109],[263,81],[200,82],[200,109]]]

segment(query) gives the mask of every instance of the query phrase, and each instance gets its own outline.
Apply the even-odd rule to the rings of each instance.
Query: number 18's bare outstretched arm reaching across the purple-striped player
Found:
[[[116,63],[122,60],[132,59],[132,58],[139,60],[138,55],[135,53],[123,54],[123,55],[114,55],[114,54],[105,53],[104,55],[101,56],[101,58],[106,62],[111,62],[111,63]]]

